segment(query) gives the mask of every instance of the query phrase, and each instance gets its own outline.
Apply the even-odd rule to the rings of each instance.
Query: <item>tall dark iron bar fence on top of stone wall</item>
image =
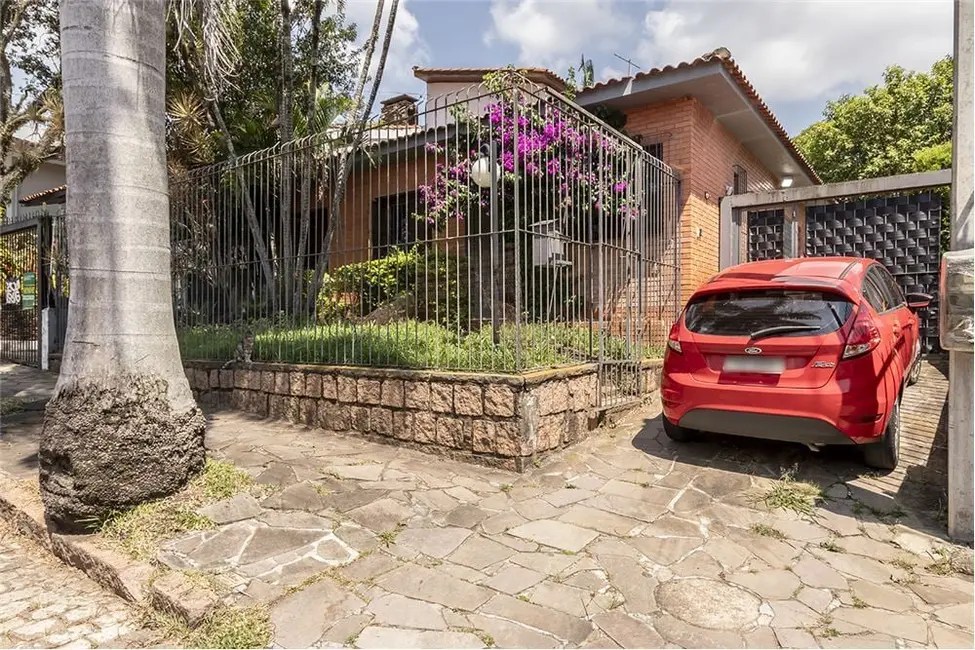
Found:
[[[521,78],[406,101],[359,146],[336,130],[171,180],[184,358],[612,374],[662,349],[670,168]]]

